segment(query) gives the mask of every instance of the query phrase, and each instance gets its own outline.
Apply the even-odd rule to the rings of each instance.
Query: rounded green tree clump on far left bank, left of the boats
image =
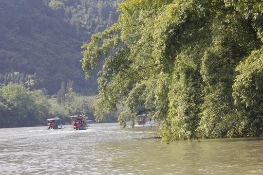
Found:
[[[0,88],[1,127],[35,126],[45,123],[49,114],[47,98],[41,90],[29,91],[22,84]]]

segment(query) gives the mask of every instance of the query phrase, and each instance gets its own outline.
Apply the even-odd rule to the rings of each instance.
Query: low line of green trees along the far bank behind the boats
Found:
[[[46,119],[59,117],[63,124],[70,124],[70,116],[85,114],[94,119],[95,96],[81,96],[70,88],[63,101],[52,98],[41,90],[29,90],[25,84],[0,84],[0,128],[46,125]],[[58,103],[59,102],[59,103]],[[117,122],[117,113],[108,115],[103,122]]]

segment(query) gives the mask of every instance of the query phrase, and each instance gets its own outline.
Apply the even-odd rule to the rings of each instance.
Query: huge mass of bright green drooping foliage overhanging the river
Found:
[[[127,106],[163,122],[163,140],[263,131],[260,0],[126,0],[118,23],[84,44],[86,77],[100,66],[96,118]]]

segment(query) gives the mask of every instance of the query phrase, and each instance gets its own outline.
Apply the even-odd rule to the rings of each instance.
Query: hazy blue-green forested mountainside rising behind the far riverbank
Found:
[[[77,93],[97,94],[96,74],[85,80],[81,46],[117,21],[120,1],[1,0],[0,83],[25,83],[28,75],[49,95],[63,81],[73,81]]]

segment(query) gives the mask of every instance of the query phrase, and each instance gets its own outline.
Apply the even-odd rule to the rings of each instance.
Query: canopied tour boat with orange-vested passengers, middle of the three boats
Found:
[[[88,127],[88,117],[85,117],[85,115],[73,115],[70,116],[71,118],[71,130],[87,130]]]

